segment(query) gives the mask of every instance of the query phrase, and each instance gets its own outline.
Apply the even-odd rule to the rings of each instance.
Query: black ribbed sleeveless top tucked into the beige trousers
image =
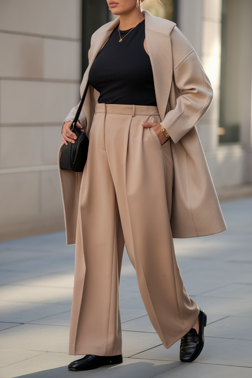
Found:
[[[125,38],[119,42],[118,26],[114,29],[90,68],[89,82],[100,92],[99,104],[156,106],[144,20],[126,36],[129,30],[120,30]]]

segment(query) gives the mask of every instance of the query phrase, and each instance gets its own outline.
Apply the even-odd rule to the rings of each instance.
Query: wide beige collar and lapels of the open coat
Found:
[[[173,76],[170,33],[176,24],[169,20],[154,17],[147,11],[143,11],[143,14],[145,17],[145,37],[150,62],[152,64],[157,106],[162,121],[166,114]],[[80,86],[81,94],[87,84],[88,73],[94,59],[117,25],[119,25],[119,17],[114,21],[103,25],[93,34],[90,51],[88,53],[90,64],[88,65]],[[85,101],[83,110],[86,115],[89,113],[86,108],[87,106],[88,102]]]

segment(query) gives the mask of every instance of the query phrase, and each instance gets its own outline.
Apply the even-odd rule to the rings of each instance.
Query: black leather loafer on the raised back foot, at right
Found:
[[[207,316],[201,308],[199,309],[199,333],[194,328],[181,339],[179,359],[182,362],[192,362],[201,353],[204,347],[204,327],[207,324]]]

